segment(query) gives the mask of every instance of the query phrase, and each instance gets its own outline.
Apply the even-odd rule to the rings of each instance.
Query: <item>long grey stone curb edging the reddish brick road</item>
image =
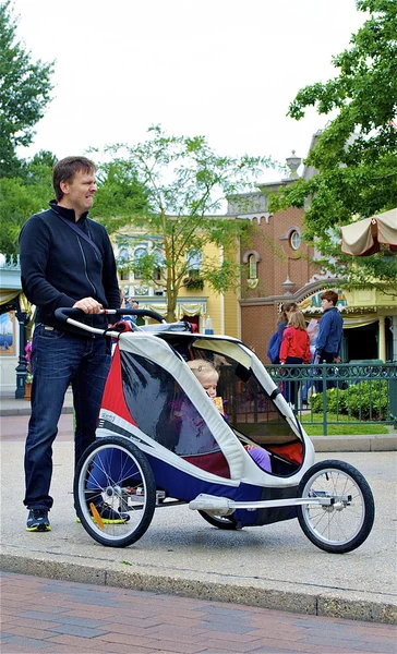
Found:
[[[47,579],[128,588],[135,591],[242,604],[328,618],[385,625],[397,623],[396,605],[382,600],[360,600],[354,597],[353,592],[348,591],[342,591],[340,594],[326,590],[316,593],[288,589],[281,591],[270,582],[267,588],[258,588],[258,585],[254,585],[254,580],[251,580],[251,584],[245,582],[238,584],[236,581],[233,583],[230,578],[228,582],[201,581],[193,577],[182,578],[178,573],[172,577],[142,573],[142,571],[134,571],[134,566],[131,564],[129,565],[131,569],[121,569],[118,564],[110,564],[108,568],[99,569],[86,564],[51,561],[16,554],[1,554],[0,566],[7,572],[33,574]]]

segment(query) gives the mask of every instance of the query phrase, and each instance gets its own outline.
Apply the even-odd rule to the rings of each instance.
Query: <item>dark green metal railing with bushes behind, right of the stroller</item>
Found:
[[[324,435],[330,424],[397,423],[397,363],[265,367],[294,412]]]

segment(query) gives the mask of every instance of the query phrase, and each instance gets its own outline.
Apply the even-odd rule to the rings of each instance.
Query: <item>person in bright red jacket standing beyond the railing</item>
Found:
[[[302,364],[311,362],[310,338],[306,331],[306,324],[301,311],[292,313],[288,320],[288,327],[284,330],[280,347],[280,363]],[[299,384],[297,382],[286,383],[284,396],[292,408],[297,405]]]

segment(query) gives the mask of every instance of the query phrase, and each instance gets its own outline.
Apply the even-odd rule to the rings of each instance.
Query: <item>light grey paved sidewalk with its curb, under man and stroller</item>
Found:
[[[67,402],[71,402],[70,396]],[[122,549],[98,545],[75,522],[71,413],[61,416],[53,447],[52,531],[24,531],[23,455],[27,421],[26,411],[1,416],[3,570],[312,616],[397,621],[392,513],[397,460],[394,451],[371,451],[380,441],[371,444],[370,437],[364,441],[350,436],[348,445],[354,451],[341,452],[344,437],[328,437],[323,443],[320,437],[313,438],[317,460],[332,458],[352,463],[374,493],[373,531],[350,554],[330,555],[317,549],[303,535],[297,520],[222,532],[210,528],[187,505],[158,508],[143,538]],[[385,440],[380,450],[395,449],[395,438]],[[321,452],[322,446],[326,451]]]

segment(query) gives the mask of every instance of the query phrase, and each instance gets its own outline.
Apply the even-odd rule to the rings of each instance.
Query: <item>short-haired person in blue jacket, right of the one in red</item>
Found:
[[[336,308],[338,293],[335,291],[325,291],[321,295],[321,305],[323,315],[320,320],[318,334],[315,343],[314,363],[340,363],[340,347],[344,334],[344,319]],[[328,382],[327,387],[335,386],[334,382]],[[323,385],[318,387],[320,392]]]

